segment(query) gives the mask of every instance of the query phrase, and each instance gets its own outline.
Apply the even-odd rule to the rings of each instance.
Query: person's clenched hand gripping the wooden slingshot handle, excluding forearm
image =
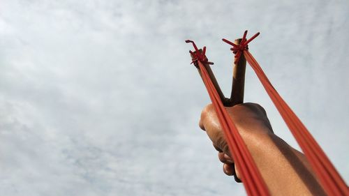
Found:
[[[227,111],[235,126],[237,126],[240,135],[242,135],[244,142],[249,147],[255,146],[253,142],[260,142],[265,135],[273,134],[267,114],[260,105],[244,103],[234,107],[227,107]],[[228,176],[235,176],[235,181],[241,182],[239,181],[239,170],[235,168],[234,160],[230,155],[228,144],[225,142],[224,133],[213,105],[207,105],[202,110],[199,126],[202,130],[206,130],[207,135],[218,151],[218,158],[223,163],[223,172]]]

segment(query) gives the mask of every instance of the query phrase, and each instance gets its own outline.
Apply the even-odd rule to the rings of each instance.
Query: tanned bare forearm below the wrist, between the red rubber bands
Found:
[[[325,195],[304,155],[281,138],[274,134],[243,138],[272,195]]]

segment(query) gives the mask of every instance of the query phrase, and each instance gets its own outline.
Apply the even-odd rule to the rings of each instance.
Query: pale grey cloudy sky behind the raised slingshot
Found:
[[[198,127],[244,30],[269,80],[349,181],[349,1],[0,0],[0,195],[246,195]],[[299,149],[251,68],[245,101]]]

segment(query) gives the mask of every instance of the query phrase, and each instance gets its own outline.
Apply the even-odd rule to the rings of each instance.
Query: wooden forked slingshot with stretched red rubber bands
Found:
[[[211,68],[209,67],[209,65],[212,65],[213,63],[209,62],[207,59],[206,47],[203,47],[203,50],[199,50],[192,40],[186,40],[186,43],[192,43],[195,49],[193,52],[190,51],[192,58],[191,63],[198,68],[207,92],[209,93],[218,120],[223,128],[229,150],[232,153],[235,164],[242,174],[242,181],[244,182],[247,194],[269,195],[267,186],[262,180],[258,168],[255,166],[251,153],[249,153],[234,122],[225,110],[225,107],[243,103],[246,61],[255,71],[262,86],[265,88],[265,91],[267,91],[268,96],[272,99],[272,102],[277,110],[279,110],[279,113],[283,117],[283,120],[290,129],[292,135],[302,148],[304,155],[308,158],[313,171],[318,177],[320,184],[327,195],[349,195],[348,186],[336,171],[329,158],[327,158],[324,151],[322,151],[321,147],[315,141],[311,133],[309,133],[309,130],[307,130],[303,125],[302,121],[299,120],[287,103],[285,103],[283,98],[281,98],[276,89],[274,89],[274,86],[272,86],[272,83],[269,81],[258,62],[253,58],[252,54],[248,52],[248,43],[258,35],[259,33],[256,33],[247,40],[247,31],[245,31],[242,39],[235,40],[235,43],[223,39],[225,43],[232,46],[230,50],[235,54],[232,93],[230,98],[225,98]]]

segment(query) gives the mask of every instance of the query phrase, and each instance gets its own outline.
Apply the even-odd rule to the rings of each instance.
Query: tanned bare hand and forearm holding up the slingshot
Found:
[[[246,143],[271,195],[326,195],[303,153],[274,134],[265,110],[255,103],[226,108]],[[225,142],[213,105],[202,110],[200,128],[218,151],[223,172],[239,181],[239,168]],[[243,167],[243,166],[242,166]]]

